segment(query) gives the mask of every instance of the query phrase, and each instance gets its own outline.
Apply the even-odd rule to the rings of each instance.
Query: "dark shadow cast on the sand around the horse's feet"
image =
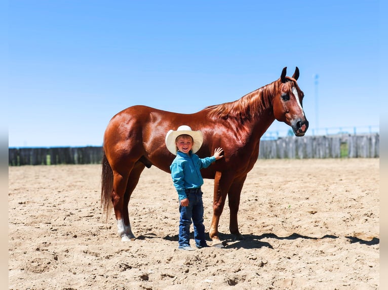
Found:
[[[244,239],[236,240],[234,235],[221,233],[221,232],[219,232],[219,237],[222,240],[223,249],[260,249],[265,247],[269,249],[275,249],[274,246],[271,245],[270,243],[266,241],[261,241],[261,239],[263,238],[272,238],[272,239],[278,239],[278,240],[295,240],[298,238],[320,240],[320,239],[339,238],[339,236],[332,235],[332,234],[326,234],[322,237],[312,237],[307,235],[301,235],[298,233],[292,233],[288,236],[278,236],[275,233],[264,233],[261,235],[245,234]],[[193,238],[194,238],[194,233],[190,232],[190,239],[193,239]],[[345,236],[345,238],[350,244],[360,243],[367,246],[380,244],[380,239],[377,237],[373,237],[371,240],[364,240],[355,236]],[[170,241],[178,241],[179,236],[178,234],[173,236],[167,235],[164,237],[164,239],[167,239]],[[211,239],[210,239],[209,233],[206,233],[206,240],[208,241],[208,244],[210,244]]]

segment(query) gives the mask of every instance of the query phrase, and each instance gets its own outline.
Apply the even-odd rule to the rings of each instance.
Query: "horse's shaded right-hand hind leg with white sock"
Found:
[[[133,190],[139,182],[140,174],[144,170],[144,165],[137,162],[132,169],[127,179],[127,187],[124,194],[123,205],[122,205],[122,216],[117,219],[117,227],[119,236],[123,241],[135,239],[135,235],[132,232],[131,222],[129,219],[128,205],[131,199]]]

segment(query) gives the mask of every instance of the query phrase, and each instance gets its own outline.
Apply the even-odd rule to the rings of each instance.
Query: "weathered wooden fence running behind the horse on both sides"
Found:
[[[261,140],[259,159],[379,158],[379,134]],[[9,148],[9,166],[98,164],[102,147]]]

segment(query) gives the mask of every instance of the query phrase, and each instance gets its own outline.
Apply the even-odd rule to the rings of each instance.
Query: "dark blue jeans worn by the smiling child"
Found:
[[[194,239],[197,247],[206,247],[205,226],[204,226],[204,204],[202,202],[203,192],[186,189],[188,206],[179,205],[179,248],[190,246],[190,224],[194,227]]]

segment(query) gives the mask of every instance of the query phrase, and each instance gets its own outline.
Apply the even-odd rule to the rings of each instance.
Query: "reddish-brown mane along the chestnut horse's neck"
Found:
[[[279,81],[274,81],[242,96],[237,101],[208,106],[204,110],[209,117],[215,119],[250,120],[254,115],[272,107],[272,98],[278,88]]]

